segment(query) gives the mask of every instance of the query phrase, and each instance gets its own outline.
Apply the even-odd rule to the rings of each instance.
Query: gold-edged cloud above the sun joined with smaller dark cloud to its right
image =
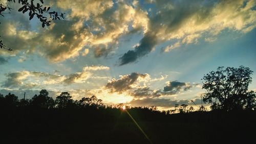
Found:
[[[196,83],[168,81],[163,89],[152,89],[150,87],[152,82],[162,81],[167,76],[152,79],[148,74],[132,73],[119,77],[119,79],[109,80],[105,85],[105,89],[110,93],[125,93],[134,98],[156,98],[163,95],[174,95],[198,86]]]

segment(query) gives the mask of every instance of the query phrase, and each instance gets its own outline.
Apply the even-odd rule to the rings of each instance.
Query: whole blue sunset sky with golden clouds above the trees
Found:
[[[36,1],[35,1],[36,2]],[[41,89],[130,106],[201,104],[202,78],[219,66],[256,71],[256,1],[44,1],[66,13],[42,28],[19,4],[0,16],[0,93]],[[47,16],[47,15],[46,15]],[[249,90],[256,90],[252,75]]]

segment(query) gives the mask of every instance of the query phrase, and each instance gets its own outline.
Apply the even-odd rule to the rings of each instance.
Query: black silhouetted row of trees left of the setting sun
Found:
[[[8,93],[4,95],[0,93],[1,107],[37,107],[45,109],[66,109],[66,108],[84,108],[84,107],[103,107],[102,100],[97,99],[95,95],[91,98],[82,98],[80,100],[73,100],[69,92],[61,92],[54,100],[49,97],[49,92],[42,89],[39,94],[35,94],[32,99],[18,99],[15,94]]]

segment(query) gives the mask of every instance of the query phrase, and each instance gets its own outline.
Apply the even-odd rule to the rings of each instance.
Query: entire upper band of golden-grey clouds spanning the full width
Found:
[[[49,28],[31,30],[27,15],[12,11],[12,16],[1,17],[1,38],[15,50],[13,54],[36,53],[50,62],[86,56],[89,50],[95,57],[108,56],[117,49],[122,36],[141,32],[139,45],[119,58],[118,64],[124,65],[137,62],[162,42],[177,41],[162,50],[169,52],[183,44],[197,43],[200,38],[215,40],[225,29],[247,33],[256,27],[254,0],[148,1],[154,6],[150,14],[137,1],[47,2],[68,11],[66,19],[52,22]]]

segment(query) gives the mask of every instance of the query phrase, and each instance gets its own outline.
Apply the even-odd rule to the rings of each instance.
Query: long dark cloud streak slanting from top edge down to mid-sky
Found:
[[[119,58],[119,65],[138,61],[139,58],[142,58],[150,53],[159,42],[172,38],[167,38],[168,36],[165,37],[162,34],[166,33],[167,35],[167,33],[178,31],[184,26],[183,24],[189,17],[193,16],[195,13],[202,9],[202,7],[200,7],[198,10],[197,7],[202,5],[201,3],[203,2],[188,3],[189,7],[184,5],[183,2],[157,2],[156,6],[161,12],[157,13],[154,17],[150,17],[150,30],[140,40],[140,45],[136,46],[135,50],[129,50]],[[208,11],[210,11],[210,9],[207,8],[203,9],[204,10],[201,11],[201,15],[207,15]],[[202,20],[203,17],[205,16],[201,16]]]

